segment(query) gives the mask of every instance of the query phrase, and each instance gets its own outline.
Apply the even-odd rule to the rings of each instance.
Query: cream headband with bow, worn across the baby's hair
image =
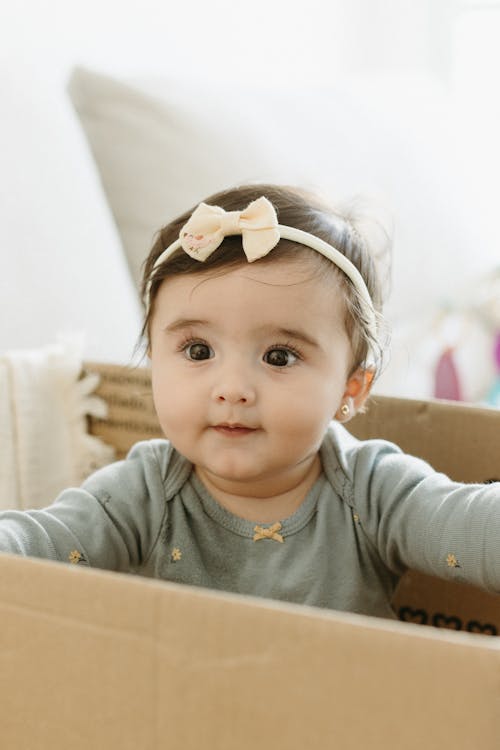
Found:
[[[298,242],[324,255],[352,281],[365,305],[372,333],[376,334],[373,302],[356,266],[339,250],[314,234],[278,224],[276,210],[264,196],[252,201],[243,211],[225,211],[219,206],[200,203],[182,227],[179,239],[169,245],[156,259],[151,271],[146,299],[149,300],[151,278],[155,270],[176,250],[182,247],[191,258],[203,262],[219,247],[224,237],[235,234],[241,234],[243,250],[249,263],[267,255],[276,247],[280,239]]]

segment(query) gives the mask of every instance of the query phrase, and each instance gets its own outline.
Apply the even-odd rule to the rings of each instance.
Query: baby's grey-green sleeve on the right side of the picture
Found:
[[[453,482],[390,443],[361,446],[353,502],[385,564],[500,592],[500,483]]]

